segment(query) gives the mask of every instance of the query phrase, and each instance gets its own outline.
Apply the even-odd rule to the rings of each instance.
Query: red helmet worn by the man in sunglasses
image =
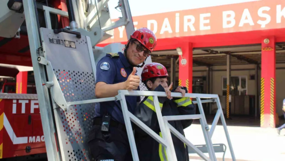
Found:
[[[131,35],[131,38],[139,41],[141,44],[144,45],[144,47],[150,50],[150,52],[152,52],[156,46],[156,36],[150,29],[146,27],[134,31]]]

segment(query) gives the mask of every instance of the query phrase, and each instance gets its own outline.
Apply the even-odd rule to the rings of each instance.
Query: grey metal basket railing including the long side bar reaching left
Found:
[[[141,120],[139,120],[136,116],[134,116],[131,112],[128,111],[127,103],[125,96],[154,96],[154,105],[156,110],[156,115],[158,117],[158,123],[160,126],[160,130],[162,133],[162,138],[156,134],[153,130],[151,130],[148,126],[146,126]],[[137,126],[139,126],[144,132],[146,132],[148,135],[150,135],[152,138],[154,138],[156,141],[158,141],[164,148],[166,149],[166,154],[169,160],[177,161],[174,145],[172,142],[171,133],[172,132],[176,137],[178,137],[182,142],[184,142],[187,146],[190,146],[193,148],[193,150],[204,160],[207,161],[216,161],[217,158],[215,157],[215,151],[213,149],[213,144],[211,142],[211,137],[213,135],[213,132],[215,130],[215,127],[217,125],[217,122],[219,118],[221,118],[221,122],[223,124],[223,128],[226,134],[227,142],[229,145],[229,149],[231,152],[231,156],[233,161],[235,161],[235,155],[233,152],[233,148],[231,145],[231,140],[229,138],[228,130],[225,123],[225,118],[223,116],[223,111],[221,108],[219,96],[217,94],[185,94],[184,97],[188,98],[196,98],[196,101],[193,101],[193,104],[198,104],[200,114],[194,114],[194,115],[178,115],[178,116],[162,116],[158,97],[166,97],[165,92],[152,92],[152,91],[128,91],[128,90],[119,90],[118,95],[115,97],[110,98],[99,98],[99,99],[93,99],[93,100],[84,100],[84,101],[75,101],[75,102],[67,102],[67,106],[76,105],[76,104],[88,104],[88,103],[99,103],[99,102],[106,102],[106,101],[120,101],[122,112],[124,116],[124,121],[126,125],[126,130],[129,138],[129,143],[131,146],[132,156],[134,161],[139,161],[137,148],[135,144],[133,129],[131,126],[131,121],[134,122]],[[181,93],[171,93],[171,97],[182,97]],[[207,100],[201,100],[201,98],[208,98]],[[207,102],[216,102],[218,106],[218,111],[216,113],[216,116],[214,118],[214,121],[212,123],[211,129],[209,129],[209,126],[207,124],[205,114],[203,111],[202,103]],[[188,119],[199,119],[203,135],[206,141],[206,146],[209,154],[209,158],[201,152],[194,144],[192,144],[189,140],[185,138],[180,132],[178,132],[173,126],[171,126],[168,121],[171,120],[188,120]],[[210,131],[208,131],[210,130]]]

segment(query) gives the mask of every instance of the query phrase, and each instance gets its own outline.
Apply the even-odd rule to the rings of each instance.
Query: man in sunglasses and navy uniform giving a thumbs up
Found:
[[[155,46],[154,33],[140,28],[130,36],[123,53],[107,53],[97,63],[96,97],[115,97],[118,90],[139,90],[140,77],[136,74],[136,67],[143,67]],[[126,96],[126,102],[133,113],[140,97]],[[120,101],[100,102],[99,106],[95,106],[94,123],[88,140],[90,153],[96,161],[133,160]]]

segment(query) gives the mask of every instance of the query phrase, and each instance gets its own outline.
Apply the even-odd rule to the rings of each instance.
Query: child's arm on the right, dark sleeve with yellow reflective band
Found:
[[[188,93],[186,87],[181,87],[181,89],[185,90]],[[172,90],[174,92],[176,88]],[[176,103],[178,112],[180,115],[194,115],[196,114],[196,106],[192,103],[189,97],[182,97],[182,98],[173,98],[173,101]],[[193,119],[191,120],[181,120],[183,128],[187,128],[193,123]]]

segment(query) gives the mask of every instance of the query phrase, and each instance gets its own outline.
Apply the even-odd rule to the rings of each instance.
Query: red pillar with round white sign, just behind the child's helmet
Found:
[[[188,93],[192,93],[192,76],[193,76],[192,43],[183,43],[179,47],[182,50],[182,55],[179,55],[178,86],[184,86],[187,88]]]

